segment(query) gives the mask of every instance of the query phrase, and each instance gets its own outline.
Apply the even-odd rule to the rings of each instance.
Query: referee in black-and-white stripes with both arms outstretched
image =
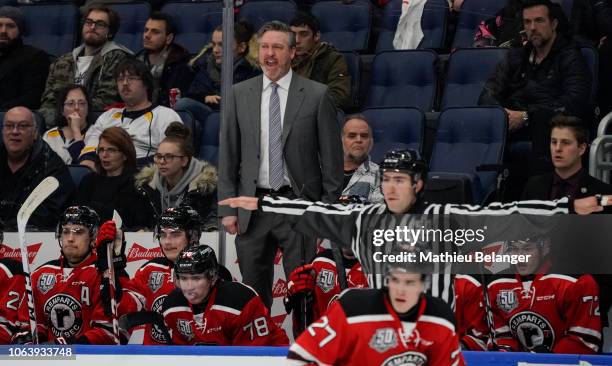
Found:
[[[380,235],[376,234],[389,229],[394,230],[398,226],[421,228],[424,224],[423,217],[417,214],[428,215],[430,222],[427,224],[433,223],[438,228],[444,229],[443,215],[475,216],[510,213],[553,215],[568,213],[570,208],[578,213],[603,209],[594,196],[573,201],[573,207],[570,207],[570,202],[566,198],[558,201],[533,200],[510,204],[494,202],[486,207],[452,204],[433,204],[424,207],[425,203],[419,196],[425,185],[427,166],[416,151],[388,152],[380,164],[380,171],[383,174],[381,188],[385,203],[343,206],[266,196],[261,201],[257,197],[228,198],[219,204],[248,210],[256,210],[259,205],[260,209],[266,212],[301,216],[296,225],[300,230],[350,247],[361,263],[370,287],[373,288],[383,286],[383,265],[374,260],[375,253],[389,253],[390,246],[396,243],[395,240],[382,240]],[[604,201],[608,201],[607,197]],[[610,202],[612,203],[612,197]],[[445,252],[453,249],[451,244],[438,239],[430,243],[430,246],[436,252]],[[451,288],[451,268],[452,266],[448,265],[434,268],[431,287],[433,296],[441,297],[448,303],[454,298]]]

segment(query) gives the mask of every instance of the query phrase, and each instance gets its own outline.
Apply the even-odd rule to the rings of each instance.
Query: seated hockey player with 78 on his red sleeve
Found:
[[[285,331],[274,324],[250,287],[219,278],[208,245],[184,249],[174,265],[178,289],[164,304],[164,321],[178,345],[286,346]]]

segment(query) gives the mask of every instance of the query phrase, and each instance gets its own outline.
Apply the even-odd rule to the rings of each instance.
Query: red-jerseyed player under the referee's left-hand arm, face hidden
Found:
[[[336,261],[331,249],[319,253],[312,263],[300,266],[293,270],[287,281],[287,296],[285,308],[287,313],[297,309],[303,296],[310,302],[306,322],[310,324],[314,319],[320,318],[331,303],[338,297],[342,288],[340,276],[345,276],[346,288],[368,287],[368,281],[361,270],[361,264],[348,248],[342,249],[341,256],[344,273],[338,271]],[[293,329],[304,329],[301,325],[301,314],[293,311]]]

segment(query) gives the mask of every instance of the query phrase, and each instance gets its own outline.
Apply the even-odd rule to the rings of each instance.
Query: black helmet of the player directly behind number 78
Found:
[[[185,231],[187,246],[196,245],[200,242],[202,235],[201,218],[198,211],[188,205],[167,208],[160,216],[155,226],[155,237],[159,240],[161,230],[166,228],[180,229]]]

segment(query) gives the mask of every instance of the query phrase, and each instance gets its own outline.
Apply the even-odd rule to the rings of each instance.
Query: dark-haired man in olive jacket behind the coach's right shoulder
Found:
[[[329,86],[337,108],[351,107],[351,76],[346,60],[334,46],[321,41],[317,18],[298,12],[290,25],[296,42],[293,71]]]

